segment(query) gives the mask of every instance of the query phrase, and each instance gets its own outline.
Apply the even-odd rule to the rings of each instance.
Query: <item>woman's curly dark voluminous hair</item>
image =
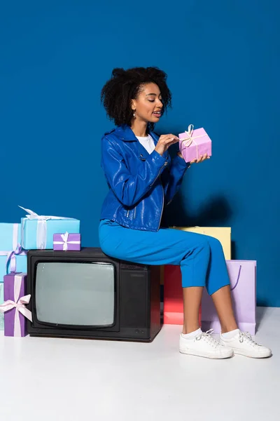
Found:
[[[172,93],[166,83],[167,74],[158,67],[133,67],[132,69],[113,69],[112,77],[102,88],[101,100],[109,119],[116,126],[127,124],[131,126],[132,100],[136,99],[141,87],[146,83],[156,83],[162,95],[162,114],[167,107],[172,107]],[[154,123],[148,123],[153,130]]]

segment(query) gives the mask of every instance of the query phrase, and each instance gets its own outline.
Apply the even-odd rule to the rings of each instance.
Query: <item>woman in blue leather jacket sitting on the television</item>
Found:
[[[238,329],[232,310],[230,281],[221,243],[211,236],[169,229],[163,210],[193,163],[168,149],[176,135],[153,132],[172,95],[167,74],[156,67],[113,69],[102,88],[106,113],[116,128],[102,138],[102,168],[109,193],[102,207],[99,241],[113,258],[144,265],[180,265],[184,323],[179,350],[184,354],[225,359],[233,353],[255,358],[271,355],[251,335]],[[203,333],[199,309],[204,286],[214,300],[222,333],[220,342]]]

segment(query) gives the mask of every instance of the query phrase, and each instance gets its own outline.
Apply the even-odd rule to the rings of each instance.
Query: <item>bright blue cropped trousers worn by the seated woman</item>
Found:
[[[205,286],[212,295],[230,285],[223,248],[214,237],[172,228],[141,231],[101,220],[99,241],[102,251],[112,258],[144,265],[180,265],[183,288]]]

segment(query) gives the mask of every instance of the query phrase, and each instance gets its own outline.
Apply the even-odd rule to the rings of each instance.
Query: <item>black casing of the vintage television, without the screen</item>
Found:
[[[36,315],[36,266],[39,262],[111,263],[115,273],[115,314],[110,326],[58,325],[39,321]],[[29,250],[27,253],[27,307],[31,336],[92,338],[151,342],[160,324],[160,267],[138,265],[105,255],[101,248],[80,251]]]

